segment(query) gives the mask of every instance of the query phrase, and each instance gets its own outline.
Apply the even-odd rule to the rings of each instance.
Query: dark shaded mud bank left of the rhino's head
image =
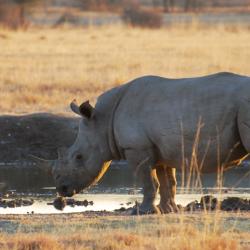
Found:
[[[70,146],[77,135],[79,118],[37,113],[0,116],[0,167],[32,167],[30,154],[57,158],[57,148]]]

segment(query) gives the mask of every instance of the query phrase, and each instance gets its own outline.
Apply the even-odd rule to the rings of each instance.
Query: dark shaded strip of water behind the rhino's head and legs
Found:
[[[214,187],[216,185],[216,174],[206,174],[202,176],[203,187]],[[39,190],[44,186],[54,186],[51,176],[37,168],[0,168],[0,183],[8,184],[9,189],[18,191],[34,191]],[[181,183],[181,174],[177,173],[177,182]],[[238,167],[226,171],[224,173],[223,184],[225,187],[234,188],[249,188],[250,183],[250,167],[249,165]],[[133,187],[134,185],[140,187],[140,180],[133,178],[133,173],[126,166],[115,166],[109,169],[101,181],[98,183],[101,188],[121,188]]]

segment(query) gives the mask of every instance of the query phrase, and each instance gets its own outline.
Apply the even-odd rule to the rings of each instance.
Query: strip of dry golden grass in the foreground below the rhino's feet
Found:
[[[84,217],[72,215],[1,216],[14,235],[0,235],[1,249],[249,249],[250,232],[227,221],[249,215],[167,215]],[[218,225],[218,222],[221,222]],[[224,224],[223,224],[224,223]],[[236,224],[235,223],[235,224]],[[224,225],[224,226],[223,226]],[[12,233],[13,233],[12,232]]]

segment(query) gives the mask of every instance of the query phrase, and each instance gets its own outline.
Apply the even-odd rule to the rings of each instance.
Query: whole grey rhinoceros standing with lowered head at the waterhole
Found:
[[[73,101],[71,109],[82,117],[78,136],[49,164],[62,196],[96,183],[110,161],[125,159],[142,179],[139,212],[177,211],[176,170],[193,171],[195,161],[200,173],[216,172],[250,152],[247,76],[143,76],[104,92],[95,107]]]

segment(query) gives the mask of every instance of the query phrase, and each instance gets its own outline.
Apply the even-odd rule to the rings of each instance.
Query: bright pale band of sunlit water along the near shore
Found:
[[[199,193],[189,193],[189,194],[177,194],[176,201],[177,204],[181,204],[182,206],[186,206],[188,203],[198,200],[200,201],[202,194]],[[213,196],[224,199],[226,197],[240,197],[250,199],[250,190],[249,189],[240,189],[230,191],[228,193],[223,194],[213,194]],[[54,213],[75,213],[75,212],[84,212],[84,211],[113,211],[115,209],[119,209],[121,207],[128,208],[135,204],[136,201],[141,202],[142,194],[114,194],[114,193],[85,193],[78,194],[74,196],[75,200],[88,200],[93,201],[93,205],[85,206],[66,206],[63,211],[57,210],[53,205],[48,205],[48,203],[52,203],[55,199],[55,195],[51,195],[50,197],[31,197],[27,194],[25,197],[22,194],[22,198],[33,198],[34,204],[27,207],[16,207],[16,208],[0,208],[0,214],[54,214]],[[158,197],[159,200],[159,197]],[[158,201],[157,201],[158,202]]]

